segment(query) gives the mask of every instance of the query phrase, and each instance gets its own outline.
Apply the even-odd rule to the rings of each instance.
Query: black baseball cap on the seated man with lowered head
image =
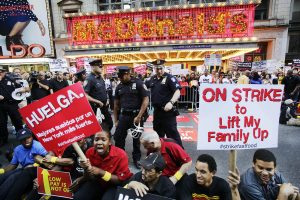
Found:
[[[151,153],[144,160],[140,161],[140,165],[146,170],[157,168],[162,171],[164,170],[166,163],[160,153]]]

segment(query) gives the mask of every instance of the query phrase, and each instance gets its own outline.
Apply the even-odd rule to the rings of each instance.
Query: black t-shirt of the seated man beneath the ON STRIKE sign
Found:
[[[191,174],[183,179],[182,187],[177,188],[177,200],[232,200],[229,184],[222,178],[213,177],[209,187],[197,183],[196,174]]]

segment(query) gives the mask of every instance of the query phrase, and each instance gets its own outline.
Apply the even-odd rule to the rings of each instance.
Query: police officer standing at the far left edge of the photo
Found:
[[[7,119],[10,117],[16,131],[22,129],[22,118],[18,112],[18,101],[12,98],[11,94],[21,87],[13,79],[6,75],[6,70],[0,68],[0,146],[7,143],[8,130]]]

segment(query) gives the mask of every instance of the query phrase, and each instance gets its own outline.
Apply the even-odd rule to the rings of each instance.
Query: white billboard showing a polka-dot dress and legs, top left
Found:
[[[6,46],[6,38],[11,33],[13,27],[16,25],[16,19],[26,20],[28,25],[23,27],[14,35],[14,41],[22,40],[28,48],[24,48],[21,52],[17,52],[18,58],[26,57],[34,54],[37,57],[53,57],[53,39],[52,39],[52,25],[50,16],[50,6],[47,0],[24,0],[24,1],[0,1],[0,16],[1,30],[0,30],[0,48],[2,48],[3,55],[12,55],[10,49]],[[26,14],[24,14],[26,13]],[[5,17],[3,17],[5,16]],[[14,42],[19,44],[19,42]],[[35,44],[40,45],[36,47]],[[41,49],[44,48],[44,53]],[[32,52],[31,52],[32,51]],[[0,50],[1,52],[1,50]],[[41,54],[40,54],[41,53]],[[1,54],[1,53],[0,53]],[[33,57],[31,55],[31,57]],[[6,58],[7,59],[7,58]]]

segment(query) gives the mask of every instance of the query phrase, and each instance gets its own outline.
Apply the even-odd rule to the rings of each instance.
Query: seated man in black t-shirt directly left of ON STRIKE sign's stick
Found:
[[[215,176],[217,164],[215,159],[207,154],[198,157],[195,173],[182,180],[181,187],[177,187],[177,200],[222,199],[231,200],[229,184],[222,178]]]

